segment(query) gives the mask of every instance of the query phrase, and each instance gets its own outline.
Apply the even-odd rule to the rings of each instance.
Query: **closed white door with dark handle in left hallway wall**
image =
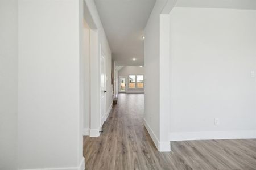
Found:
[[[101,52],[100,59],[100,69],[101,69],[101,126],[105,121],[105,113],[106,113],[106,59],[104,53]]]

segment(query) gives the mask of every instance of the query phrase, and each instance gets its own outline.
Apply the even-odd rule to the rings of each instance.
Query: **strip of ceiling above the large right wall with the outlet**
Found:
[[[256,9],[256,0],[178,0],[177,7]]]

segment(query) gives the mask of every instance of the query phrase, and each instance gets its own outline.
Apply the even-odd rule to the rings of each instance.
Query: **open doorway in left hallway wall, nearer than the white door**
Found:
[[[101,126],[101,46],[98,42],[98,28],[84,1],[82,18],[82,61],[84,74],[84,129],[83,135],[98,137]],[[104,77],[105,78],[105,77]]]

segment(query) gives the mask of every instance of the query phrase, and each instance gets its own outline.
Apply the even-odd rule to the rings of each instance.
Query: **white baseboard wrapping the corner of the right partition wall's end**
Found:
[[[166,142],[159,142],[158,138],[156,137],[154,131],[150,128],[147,121],[144,120],[144,126],[146,127],[148,133],[150,134],[150,137],[152,138],[153,142],[155,143],[156,148],[160,152],[170,152],[171,151],[171,143],[170,141]]]

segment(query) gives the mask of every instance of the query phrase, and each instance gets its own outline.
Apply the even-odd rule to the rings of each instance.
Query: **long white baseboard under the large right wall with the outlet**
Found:
[[[170,141],[193,141],[213,139],[255,139],[256,130],[248,131],[200,131],[200,132],[172,132]]]

